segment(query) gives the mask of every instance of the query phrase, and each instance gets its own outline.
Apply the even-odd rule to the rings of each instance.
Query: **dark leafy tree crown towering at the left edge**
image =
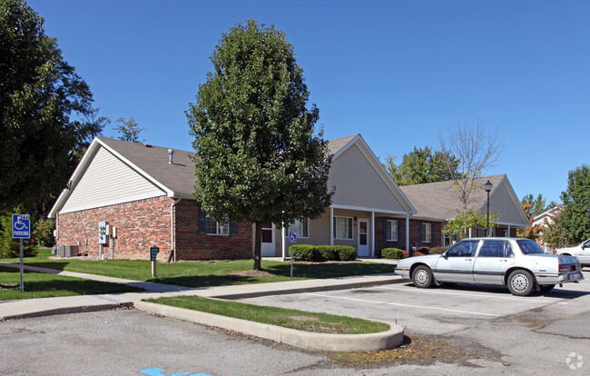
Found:
[[[100,133],[84,121],[90,88],[43,24],[25,1],[0,2],[0,210],[61,192],[74,151]]]

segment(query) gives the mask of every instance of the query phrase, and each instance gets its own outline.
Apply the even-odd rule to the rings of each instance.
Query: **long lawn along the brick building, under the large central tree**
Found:
[[[69,272],[87,272],[136,281],[161,282],[188,287],[221,286],[244,283],[281,282],[290,280],[289,262],[262,261],[262,268],[270,275],[238,275],[251,271],[252,260],[215,262],[158,262],[157,278],[152,278],[151,262],[147,260],[49,260],[48,249],[40,249],[36,257],[25,258],[27,265],[41,266]],[[19,262],[18,259],[2,260]],[[298,264],[293,268],[294,280],[342,277],[393,272],[394,265],[376,262],[341,262]]]

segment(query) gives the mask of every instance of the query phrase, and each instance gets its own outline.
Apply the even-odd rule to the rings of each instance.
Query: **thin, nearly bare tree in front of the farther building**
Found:
[[[482,187],[476,185],[476,180],[487,168],[496,165],[500,159],[503,143],[498,140],[497,133],[488,133],[486,125],[477,121],[476,124],[457,124],[455,130],[447,135],[438,136],[441,152],[458,158],[455,167],[452,159],[443,160],[448,177],[456,189],[461,207],[458,213],[467,215],[471,194]],[[467,228],[466,228],[467,230]]]

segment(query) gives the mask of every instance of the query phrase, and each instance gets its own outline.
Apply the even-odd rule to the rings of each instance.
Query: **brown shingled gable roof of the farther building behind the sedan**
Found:
[[[492,202],[492,197],[497,192],[498,187],[503,186],[510,196],[522,223],[528,223],[526,214],[520,202],[518,202],[516,193],[512,189],[512,185],[508,182],[505,174],[477,178],[475,185],[480,187],[480,189],[471,193],[469,209],[477,212],[486,210],[487,193],[483,186],[488,180],[493,184],[493,189],[490,193],[490,202]],[[456,217],[457,213],[455,209],[462,205],[452,181],[402,185],[400,189],[406,194],[409,201],[414,204],[414,207],[418,211],[416,216],[420,218],[435,221],[449,221]]]

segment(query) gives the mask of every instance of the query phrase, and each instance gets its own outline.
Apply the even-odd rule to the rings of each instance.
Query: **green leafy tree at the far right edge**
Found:
[[[567,189],[561,193],[564,210],[561,228],[565,242],[579,244],[590,238],[590,167],[583,164],[567,174]]]

